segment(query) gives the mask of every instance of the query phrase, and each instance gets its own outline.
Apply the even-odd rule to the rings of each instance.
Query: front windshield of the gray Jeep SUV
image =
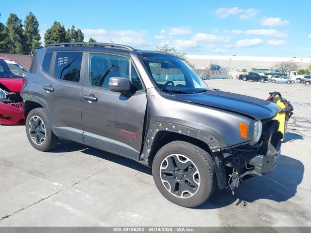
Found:
[[[142,62],[162,91],[195,93],[208,91],[206,83],[182,59],[166,54],[143,54]]]

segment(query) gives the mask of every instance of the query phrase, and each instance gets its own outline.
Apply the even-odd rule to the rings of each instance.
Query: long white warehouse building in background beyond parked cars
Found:
[[[311,65],[311,58],[298,57],[251,57],[251,56],[219,56],[219,55],[187,55],[196,69],[209,69],[210,64],[217,64],[223,69],[235,73],[246,69],[247,72],[263,73],[274,69],[281,62],[294,61],[298,68],[305,69]]]

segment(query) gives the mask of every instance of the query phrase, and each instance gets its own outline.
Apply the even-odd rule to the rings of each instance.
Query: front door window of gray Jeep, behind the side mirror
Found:
[[[135,91],[142,89],[142,84],[133,65],[130,77],[130,60],[120,56],[91,53],[88,77],[89,85],[106,89],[109,88],[109,78],[111,77],[131,78]]]

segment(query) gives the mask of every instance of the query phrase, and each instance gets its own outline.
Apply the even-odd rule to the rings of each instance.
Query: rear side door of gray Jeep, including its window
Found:
[[[83,57],[83,52],[47,52],[42,65],[46,73],[42,95],[49,108],[53,131],[77,142],[84,142],[81,120]]]

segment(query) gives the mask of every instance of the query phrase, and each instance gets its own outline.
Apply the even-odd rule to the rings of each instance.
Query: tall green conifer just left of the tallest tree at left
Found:
[[[8,32],[8,49],[9,52],[23,53],[25,45],[25,37],[21,19],[15,14],[10,14],[6,22]]]

